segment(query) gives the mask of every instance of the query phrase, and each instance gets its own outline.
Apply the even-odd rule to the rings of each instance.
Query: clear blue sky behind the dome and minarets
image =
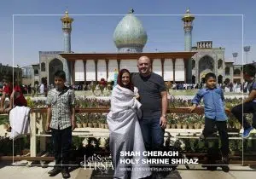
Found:
[[[207,2],[207,3],[206,3]],[[256,3],[253,0],[9,0],[1,2],[0,48],[3,65],[12,64],[13,14],[244,14],[244,45],[250,45],[248,61],[256,60]],[[123,16],[73,16],[74,52],[116,52],[113,30]],[[139,16],[148,33],[144,51],[183,51],[181,16]],[[38,51],[63,50],[61,16],[15,16],[15,65],[38,63]],[[241,63],[241,16],[195,16],[193,44],[212,40],[213,47],[224,47],[225,59],[238,52]],[[244,56],[245,59],[245,56]]]

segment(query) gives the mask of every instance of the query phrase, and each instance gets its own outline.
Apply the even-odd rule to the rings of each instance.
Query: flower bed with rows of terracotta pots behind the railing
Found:
[[[45,101],[32,101],[28,99],[29,107],[46,107]],[[241,103],[241,98],[237,99],[226,99],[225,107],[232,108],[237,104]],[[203,107],[203,104],[200,104]],[[178,110],[187,111],[186,108],[181,107],[190,107],[191,100],[183,99],[174,99],[169,103],[169,108],[175,111]],[[100,99],[88,99],[84,96],[78,96],[76,98],[76,108],[110,108],[110,101],[100,100]],[[172,111],[171,110],[171,111]],[[252,120],[252,115],[247,115],[249,121]],[[241,129],[241,124],[238,123],[238,120],[232,115],[228,114],[228,128],[233,130]],[[107,124],[107,114],[106,113],[76,113],[78,127],[94,127],[108,129]],[[192,113],[168,113],[167,114],[167,129],[201,129],[204,128],[204,115],[192,114]]]

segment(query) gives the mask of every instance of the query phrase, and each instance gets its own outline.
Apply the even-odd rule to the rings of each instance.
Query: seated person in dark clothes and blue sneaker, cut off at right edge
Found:
[[[243,67],[243,78],[248,83],[249,95],[243,100],[243,103],[237,105],[232,109],[232,113],[238,118],[240,124],[243,126],[244,138],[250,136],[253,128],[256,128],[256,79],[255,79],[256,68],[253,64],[247,64]],[[243,113],[253,113],[253,126],[248,123],[247,119],[243,116]]]

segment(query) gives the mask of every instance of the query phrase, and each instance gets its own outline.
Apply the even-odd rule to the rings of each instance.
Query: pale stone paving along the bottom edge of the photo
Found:
[[[209,171],[202,170],[200,165],[190,167],[192,170],[186,170],[184,165],[178,166],[178,170],[172,171],[166,179],[254,179],[255,178],[255,167],[248,166],[231,166],[230,172],[225,173],[222,170]],[[61,173],[55,177],[49,177],[48,171],[52,167],[42,168],[41,166],[13,166],[6,165],[0,162],[0,178],[1,179],[61,179]],[[71,174],[72,179],[90,179],[92,170],[84,170],[79,168],[73,170]],[[113,176],[101,176],[98,178],[113,178]]]

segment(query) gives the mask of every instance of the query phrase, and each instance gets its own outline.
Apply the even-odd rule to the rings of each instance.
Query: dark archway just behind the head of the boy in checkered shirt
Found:
[[[55,72],[63,70],[63,63],[59,59],[49,62],[49,84],[55,84]]]

